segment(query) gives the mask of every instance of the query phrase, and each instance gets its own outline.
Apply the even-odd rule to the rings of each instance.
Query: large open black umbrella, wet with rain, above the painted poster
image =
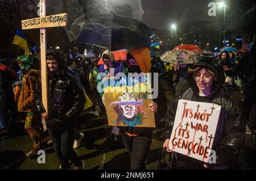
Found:
[[[76,43],[98,45],[110,50],[150,47],[153,34],[146,24],[116,14],[85,15]]]

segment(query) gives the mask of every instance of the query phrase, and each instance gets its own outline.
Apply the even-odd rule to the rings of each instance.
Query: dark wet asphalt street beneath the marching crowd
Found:
[[[171,79],[166,76],[160,79],[164,87],[168,102],[174,99],[175,90]],[[242,107],[243,95],[240,89],[234,90],[232,96],[237,100],[238,108]],[[130,156],[126,151],[120,135],[117,142],[110,140],[111,127],[108,126],[106,115],[94,116],[88,111],[82,112],[82,128],[80,133],[84,133],[79,148],[76,149],[80,159],[85,161],[85,169],[96,170],[129,170]],[[255,130],[255,106],[250,115],[250,126]],[[155,128],[150,152],[146,160],[146,168],[150,170],[158,169],[159,158],[162,155],[162,137],[164,123]],[[35,169],[35,170],[56,170],[59,169],[59,161],[54,153],[51,140],[47,136],[49,143],[46,151],[46,163],[39,164],[37,159],[26,157],[32,149],[32,141],[24,131],[24,120],[13,120],[10,123],[9,131],[0,134],[0,169]],[[166,159],[168,155],[166,154]],[[229,169],[255,169],[255,133],[246,135],[245,145],[232,162]]]

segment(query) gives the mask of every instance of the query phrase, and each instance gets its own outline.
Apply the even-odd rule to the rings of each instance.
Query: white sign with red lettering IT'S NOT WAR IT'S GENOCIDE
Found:
[[[207,163],[220,111],[217,104],[179,100],[169,148]]]

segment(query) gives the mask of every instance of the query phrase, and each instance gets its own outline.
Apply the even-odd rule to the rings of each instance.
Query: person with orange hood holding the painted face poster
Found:
[[[150,52],[145,48],[130,50],[127,54],[129,62],[129,73],[150,72]],[[153,81],[151,81],[153,82]],[[158,82],[159,83],[159,82]],[[158,86],[158,98],[154,99],[148,106],[155,113],[155,122],[162,118],[166,112],[166,96],[162,86]],[[146,169],[146,158],[152,142],[153,128],[143,127],[119,127],[122,140],[131,157],[131,170]]]

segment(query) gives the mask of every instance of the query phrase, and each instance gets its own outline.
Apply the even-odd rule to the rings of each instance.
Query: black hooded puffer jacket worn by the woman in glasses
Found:
[[[216,165],[224,166],[228,165],[234,156],[241,150],[243,142],[245,141],[245,125],[241,121],[240,111],[237,109],[234,99],[227,94],[220,85],[224,81],[224,73],[222,64],[220,61],[213,57],[203,57],[194,65],[195,68],[200,66],[209,68],[217,74],[217,79],[214,80],[212,92],[209,96],[199,96],[199,89],[196,86],[195,81],[192,82],[192,87],[189,88],[190,99],[196,102],[216,103],[214,100],[221,100],[221,113],[218,120],[216,136],[214,138],[212,149],[216,151]],[[185,94],[185,93],[184,93]],[[174,126],[174,120],[177,110],[177,103],[183,95],[180,95],[171,102],[166,115],[166,138],[171,137],[172,128]],[[185,98],[183,98],[185,99]],[[177,154],[177,158],[181,161],[186,161],[193,165],[203,166],[204,162],[187,157],[185,155]]]

